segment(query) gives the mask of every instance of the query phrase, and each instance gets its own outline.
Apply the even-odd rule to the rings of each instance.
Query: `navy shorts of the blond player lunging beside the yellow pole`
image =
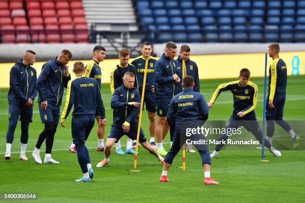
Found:
[[[119,140],[124,135],[127,135],[132,140],[137,140],[137,132],[138,132],[137,128],[131,128],[129,130],[129,132],[126,133],[126,132],[123,131],[122,127],[118,127],[117,125],[112,125],[110,133],[108,135],[108,138],[116,138],[117,140]],[[143,143],[143,142],[146,142],[146,141],[147,141],[147,139],[144,135],[144,132],[143,132],[142,128],[140,128],[139,142]]]

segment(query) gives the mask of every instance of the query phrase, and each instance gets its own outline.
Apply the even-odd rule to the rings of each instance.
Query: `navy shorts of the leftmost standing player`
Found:
[[[32,122],[32,116],[33,105],[25,106],[25,104],[10,103],[8,106],[8,120],[19,119],[21,122]]]

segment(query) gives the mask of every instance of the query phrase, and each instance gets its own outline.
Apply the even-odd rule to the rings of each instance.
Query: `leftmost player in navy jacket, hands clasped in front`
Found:
[[[6,152],[4,159],[10,159],[10,148],[14,139],[18,118],[20,117],[20,159],[24,161],[28,160],[25,156],[28,126],[32,122],[33,101],[37,95],[36,70],[32,67],[34,63],[35,52],[27,50],[24,52],[23,59],[18,61],[9,72],[8,129],[6,132]]]

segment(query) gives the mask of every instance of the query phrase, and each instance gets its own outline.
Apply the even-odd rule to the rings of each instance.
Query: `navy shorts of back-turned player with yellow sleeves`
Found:
[[[89,134],[94,126],[94,116],[90,117],[72,117],[72,139],[74,144],[86,143]]]

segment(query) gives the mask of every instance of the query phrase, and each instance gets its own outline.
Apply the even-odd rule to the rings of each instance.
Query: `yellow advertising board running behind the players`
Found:
[[[304,75],[305,74],[305,51],[298,52],[281,52],[280,58],[286,62],[288,75]],[[196,55],[191,56],[191,60],[197,63],[200,79],[216,79],[216,78],[236,78],[239,70],[248,68],[251,71],[251,77],[263,77],[265,68],[264,53],[248,53],[248,54],[217,54],[217,55]],[[130,59],[130,62],[132,59]],[[70,61],[69,72],[72,79],[75,78],[72,73],[73,65],[76,61]],[[89,62],[82,61],[85,65]],[[41,72],[41,67],[45,62],[36,62],[33,67],[37,71],[37,77]],[[119,59],[106,59],[100,63],[102,67],[102,83],[110,82],[110,73],[119,63]],[[272,63],[272,59],[268,56],[268,66]],[[14,63],[0,64],[0,88],[9,87],[9,71]]]

